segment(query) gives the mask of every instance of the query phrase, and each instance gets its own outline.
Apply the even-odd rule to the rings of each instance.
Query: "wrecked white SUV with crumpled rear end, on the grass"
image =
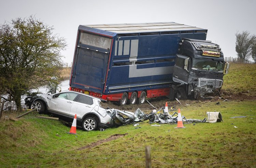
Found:
[[[147,120],[140,109],[135,113],[116,109],[104,109],[99,98],[66,91],[52,95],[37,94],[25,98],[29,108],[37,108],[39,113],[48,112],[72,122],[76,114],[77,124],[86,131],[97,130],[99,127],[108,128],[125,125],[141,120]]]

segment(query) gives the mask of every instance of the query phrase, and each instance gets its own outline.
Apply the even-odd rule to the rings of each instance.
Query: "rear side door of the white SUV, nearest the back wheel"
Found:
[[[69,116],[82,119],[86,113],[91,112],[95,108],[96,104],[94,99],[86,94],[79,94],[79,97],[74,101],[73,106],[71,107]],[[97,108],[98,109],[98,108]]]

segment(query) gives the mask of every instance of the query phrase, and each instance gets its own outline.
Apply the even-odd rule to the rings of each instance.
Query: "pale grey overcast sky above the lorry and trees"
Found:
[[[235,34],[256,34],[256,0],[0,0],[0,24],[35,15],[67,39],[71,63],[80,24],[176,22],[208,29],[207,40],[236,57]]]

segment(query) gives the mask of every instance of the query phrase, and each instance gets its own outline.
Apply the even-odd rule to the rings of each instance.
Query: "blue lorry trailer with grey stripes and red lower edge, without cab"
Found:
[[[183,58],[192,65],[192,57],[190,61],[185,59],[189,56],[178,58],[181,43],[183,39],[204,41],[206,36],[206,29],[175,22],[80,25],[70,90],[120,105],[143,103],[146,96],[187,97],[193,86],[189,88],[177,74],[173,79],[175,60]],[[223,54],[207,57],[224,62]],[[183,70],[184,66],[188,65],[183,64]]]

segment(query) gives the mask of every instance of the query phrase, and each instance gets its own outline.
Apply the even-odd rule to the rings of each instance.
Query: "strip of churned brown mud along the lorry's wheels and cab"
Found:
[[[221,92],[221,97],[219,96],[215,96],[213,99],[198,99],[198,100],[180,100],[181,102],[181,106],[185,106],[185,105],[193,105],[194,103],[198,103],[198,102],[205,102],[205,101],[223,101],[225,99],[228,99],[229,101],[244,101],[244,100],[256,100],[256,94],[254,93],[250,93],[250,92],[239,92],[239,93],[232,93],[232,92],[228,92],[223,90],[223,92]],[[176,107],[176,106],[180,106],[178,101],[171,101],[169,98],[163,96],[163,97],[156,97],[156,98],[150,98],[147,99],[154,107],[156,107],[157,109],[160,109],[161,107],[165,107],[165,103],[168,102],[168,107]],[[119,110],[127,110],[127,111],[131,111],[134,112],[136,109],[140,108],[141,110],[143,110],[146,113],[149,113],[153,110],[152,106],[148,103],[145,102],[144,104],[136,104],[136,105],[125,105],[125,106],[118,106],[116,102],[104,102],[102,103],[103,107],[109,107],[109,108],[115,108],[115,109],[119,109]]]

